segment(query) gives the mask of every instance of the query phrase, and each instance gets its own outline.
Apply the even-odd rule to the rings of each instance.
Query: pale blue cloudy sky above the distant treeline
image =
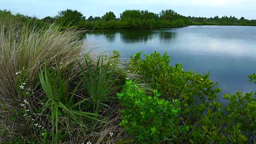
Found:
[[[44,18],[59,11],[78,10],[89,16],[112,11],[117,17],[124,10],[148,10],[159,13],[172,9],[184,16],[235,16],[256,19],[256,0],[0,0],[0,9]]]

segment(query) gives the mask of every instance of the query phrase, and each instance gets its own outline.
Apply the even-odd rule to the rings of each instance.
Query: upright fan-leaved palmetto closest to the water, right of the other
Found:
[[[84,88],[86,88],[90,102],[92,102],[93,112],[98,114],[100,107],[107,106],[106,102],[111,100],[111,94],[120,87],[114,85],[118,80],[118,76],[114,75],[116,67],[112,66],[110,69],[112,65],[110,59],[106,63],[104,62],[104,57],[100,55],[93,71],[91,69],[93,63],[90,63],[92,61],[88,61],[88,57],[86,56],[84,59],[86,70],[78,62],[82,71],[81,81],[84,82]]]

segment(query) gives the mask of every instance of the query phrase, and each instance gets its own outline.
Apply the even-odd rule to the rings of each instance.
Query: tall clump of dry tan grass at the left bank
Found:
[[[53,25],[49,29],[37,29],[26,23],[17,29],[16,25],[6,28],[0,24],[0,29],[0,94],[3,99],[17,99],[16,72],[22,67],[28,70],[27,84],[35,88],[39,70],[45,62],[50,66],[66,67],[76,61],[85,48],[83,40],[77,37],[80,32],[61,32]],[[72,76],[74,74],[70,74],[71,79]]]

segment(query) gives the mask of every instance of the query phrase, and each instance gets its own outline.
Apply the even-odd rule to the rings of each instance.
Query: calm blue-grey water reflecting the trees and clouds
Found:
[[[254,91],[247,74],[256,72],[256,27],[252,26],[189,26],[177,29],[147,31],[102,31],[87,34],[92,42],[106,52],[118,50],[123,58],[143,51],[155,50],[171,56],[171,65],[181,63],[184,70],[204,74],[218,81],[222,94]]]

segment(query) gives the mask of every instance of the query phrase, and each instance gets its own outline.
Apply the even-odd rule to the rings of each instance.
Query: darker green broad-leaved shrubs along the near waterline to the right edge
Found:
[[[181,103],[181,124],[190,125],[190,133],[180,135],[176,142],[190,143],[253,143],[255,142],[255,94],[224,95],[228,106],[216,102],[219,88],[209,80],[208,74],[200,75],[192,71],[184,72],[181,64],[169,65],[170,57],[158,52],[145,55],[131,55],[129,70],[144,76],[145,82],[162,93],[162,98]],[[249,76],[250,81],[256,74]],[[207,112],[206,115],[203,112]],[[254,140],[253,140],[254,139]]]

